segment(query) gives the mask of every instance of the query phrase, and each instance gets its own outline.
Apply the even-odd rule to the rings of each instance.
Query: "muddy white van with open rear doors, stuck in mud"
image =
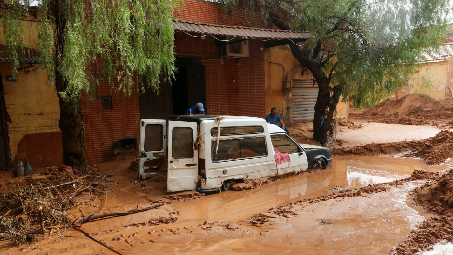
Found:
[[[235,182],[299,172],[331,162],[325,147],[299,144],[262,118],[178,115],[142,119],[138,179],[154,176],[146,162],[168,157],[167,191],[227,190]]]

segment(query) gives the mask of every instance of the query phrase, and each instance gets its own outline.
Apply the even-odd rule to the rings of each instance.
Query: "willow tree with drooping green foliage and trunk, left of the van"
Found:
[[[0,14],[14,74],[25,51],[22,21],[37,22],[39,64],[59,98],[65,165],[86,167],[81,94],[94,93],[96,80],[108,79],[118,93],[130,96],[145,93],[144,84],[155,91],[159,78],[175,71],[174,0],[3,2]]]

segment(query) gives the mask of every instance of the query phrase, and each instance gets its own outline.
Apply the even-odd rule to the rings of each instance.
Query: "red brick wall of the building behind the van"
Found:
[[[183,10],[176,10],[174,16],[177,19],[219,25],[251,26],[255,20],[246,18],[245,12],[241,10],[222,16],[219,5],[196,0],[186,0]],[[219,47],[212,36],[200,39],[188,34],[175,34],[176,56],[197,57],[205,66],[205,109],[208,114],[265,117],[264,52],[260,50],[263,44],[258,39],[249,40],[249,43],[249,58],[239,65],[237,59],[229,59],[222,64]],[[235,78],[236,83],[231,83],[231,78]],[[109,95],[112,96],[113,110],[102,110],[101,96]],[[108,83],[101,81],[94,101],[86,103],[82,98],[82,118],[87,162],[115,159],[112,142],[118,139],[136,137],[139,142],[140,107],[135,93],[124,97],[122,93],[115,93]]]

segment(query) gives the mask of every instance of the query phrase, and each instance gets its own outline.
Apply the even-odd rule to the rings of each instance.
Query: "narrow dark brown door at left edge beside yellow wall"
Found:
[[[5,98],[3,97],[3,83],[0,75],[0,170],[7,170],[10,166],[10,148],[8,129],[6,126]]]

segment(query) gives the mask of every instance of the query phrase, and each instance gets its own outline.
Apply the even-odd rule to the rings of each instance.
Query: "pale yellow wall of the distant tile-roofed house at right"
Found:
[[[428,66],[421,68],[419,74],[409,79],[409,93],[427,94],[435,99],[445,98],[446,91],[451,86],[451,77],[448,75],[448,71],[451,69],[450,66],[451,64],[444,61],[440,63],[429,63]],[[432,86],[424,88],[421,85],[422,76],[428,78]]]

